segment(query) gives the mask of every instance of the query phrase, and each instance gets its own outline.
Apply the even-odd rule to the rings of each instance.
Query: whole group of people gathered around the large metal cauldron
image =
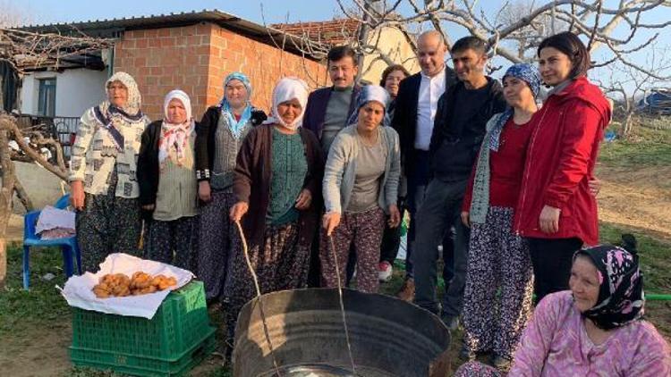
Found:
[[[497,368],[470,363],[463,375],[511,363],[515,375],[584,365],[668,373],[668,346],[641,320],[638,257],[593,247],[593,172],[610,105],[586,77],[580,38],[546,38],[539,68],[514,64],[502,83],[485,74],[479,38],[451,46],[454,69],[439,32],[417,46],[421,71],[390,66],[379,86],[355,83],[356,54],[336,46],[327,54],[333,85],[310,93],[300,79],[281,79],[269,116],[251,104],[251,80],[234,72],[200,122],[174,90],[164,118],[150,123],[135,81],[115,73],[72,147],[83,268],[95,271],[109,253],[138,254],[141,243],[143,256],[205,282],[232,339],[256,292],[242,238],[264,293],[344,284],[376,293],[407,210],[399,297],[451,329],[461,318],[461,356],[488,353]],[[543,84],[551,89],[539,106]],[[626,361],[611,360],[605,345],[614,342]]]

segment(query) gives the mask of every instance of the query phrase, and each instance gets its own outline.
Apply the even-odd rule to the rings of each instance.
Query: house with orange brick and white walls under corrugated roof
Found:
[[[223,96],[222,81],[232,71],[248,74],[252,103],[266,111],[272,88],[284,76],[298,76],[311,88],[328,83],[319,57],[297,47],[313,42],[217,10],[21,29],[115,39],[114,49],[70,59],[79,64],[29,68],[22,80],[22,113],[79,117],[104,98],[106,78],[115,71],[137,80],[142,109],[151,119],[163,116],[163,98],[174,88],[191,96],[194,116],[200,118]]]

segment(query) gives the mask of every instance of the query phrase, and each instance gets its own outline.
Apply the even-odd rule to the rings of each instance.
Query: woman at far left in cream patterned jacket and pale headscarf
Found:
[[[81,116],[68,177],[82,270],[89,272],[110,253],[138,254],[140,242],[135,172],[149,120],[140,111],[140,91],[131,75],[117,72],[105,88],[106,101]]]

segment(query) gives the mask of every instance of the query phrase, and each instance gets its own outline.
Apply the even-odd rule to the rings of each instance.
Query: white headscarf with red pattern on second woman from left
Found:
[[[181,101],[186,110],[186,121],[181,124],[168,122],[168,105],[173,99]],[[193,118],[191,118],[191,98],[182,90],[173,90],[166,95],[163,101],[163,112],[165,118],[161,124],[161,138],[158,141],[158,163],[164,166],[166,158],[170,155],[170,147],[174,146],[177,151],[175,163],[181,165],[184,158],[184,147],[195,128]]]

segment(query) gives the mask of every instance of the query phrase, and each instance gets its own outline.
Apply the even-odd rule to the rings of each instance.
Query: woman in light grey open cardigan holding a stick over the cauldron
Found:
[[[401,222],[397,206],[401,174],[398,134],[391,127],[382,127],[388,102],[384,88],[362,88],[351,125],[338,133],[328,151],[323,181],[326,214],[319,249],[322,286],[336,287],[338,279],[344,281],[353,246],[357,289],[378,291],[382,231],[386,224],[395,228]],[[335,250],[331,250],[328,238],[333,239]]]

